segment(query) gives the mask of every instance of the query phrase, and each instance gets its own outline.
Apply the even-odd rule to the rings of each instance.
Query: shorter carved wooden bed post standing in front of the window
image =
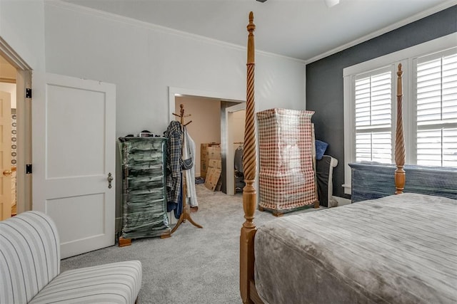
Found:
[[[398,79],[397,79],[397,126],[395,138],[395,163],[397,169],[395,170],[395,194],[403,193],[405,189],[406,172],[403,169],[405,165],[405,140],[403,137],[403,108],[401,100],[403,98],[403,85],[401,80],[401,63],[398,64]]]

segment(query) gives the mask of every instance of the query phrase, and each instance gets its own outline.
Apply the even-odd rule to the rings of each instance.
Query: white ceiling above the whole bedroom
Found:
[[[456,5],[457,0],[64,0],[246,46],[249,11],[256,50],[311,62]]]

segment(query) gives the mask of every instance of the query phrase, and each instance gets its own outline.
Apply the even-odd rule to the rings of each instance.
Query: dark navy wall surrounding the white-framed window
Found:
[[[457,31],[457,6],[409,23],[376,38],[306,65],[306,110],[313,110],[316,139],[338,159],[333,195],[349,198],[344,184],[343,68],[400,51]],[[456,41],[457,45],[457,41]]]

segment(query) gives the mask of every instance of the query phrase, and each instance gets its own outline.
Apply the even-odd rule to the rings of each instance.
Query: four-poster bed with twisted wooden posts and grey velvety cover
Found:
[[[394,177],[398,195],[273,219],[256,228],[252,12],[247,28],[243,303],[457,303],[457,200],[403,194],[401,65]]]

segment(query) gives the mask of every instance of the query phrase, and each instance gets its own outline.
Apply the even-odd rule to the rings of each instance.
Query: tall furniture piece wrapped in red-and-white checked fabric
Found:
[[[316,203],[313,114],[279,108],[257,113],[258,209],[281,215]]]

